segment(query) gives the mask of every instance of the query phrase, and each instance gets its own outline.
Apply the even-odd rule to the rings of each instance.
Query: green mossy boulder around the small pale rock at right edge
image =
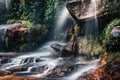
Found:
[[[119,51],[120,37],[112,37],[111,31],[114,27],[120,26],[120,19],[114,19],[111,21],[103,32],[103,43],[107,51]]]

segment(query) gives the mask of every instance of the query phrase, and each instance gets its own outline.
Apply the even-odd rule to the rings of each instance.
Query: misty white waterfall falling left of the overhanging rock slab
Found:
[[[66,9],[66,6],[64,6],[63,10],[60,12],[58,20],[56,20],[55,29],[54,29],[54,39],[55,40],[64,41],[66,32],[63,32],[63,27],[65,24],[65,21],[68,18],[68,14],[69,14],[68,10]]]

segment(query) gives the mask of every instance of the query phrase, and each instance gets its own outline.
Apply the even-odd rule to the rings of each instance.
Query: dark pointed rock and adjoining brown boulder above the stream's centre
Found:
[[[55,55],[60,57],[86,56],[82,40],[68,42],[67,45],[53,44],[51,47],[56,51]]]

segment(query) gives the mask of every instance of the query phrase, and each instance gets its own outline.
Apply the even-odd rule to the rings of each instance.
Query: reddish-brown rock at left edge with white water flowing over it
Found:
[[[0,39],[1,42],[4,42],[6,37],[14,41],[21,41],[21,39],[27,37],[27,28],[24,28],[21,23],[0,26],[0,35],[2,36]]]

